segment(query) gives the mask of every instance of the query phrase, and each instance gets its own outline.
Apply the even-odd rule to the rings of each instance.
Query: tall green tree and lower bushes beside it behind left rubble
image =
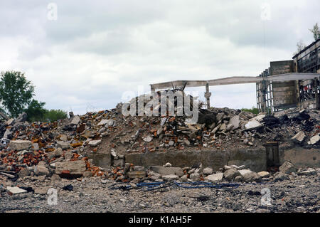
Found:
[[[18,117],[22,112],[28,115],[28,122],[53,122],[67,117],[63,110],[46,110],[46,102],[34,99],[34,86],[18,71],[1,72],[0,110],[9,117]]]

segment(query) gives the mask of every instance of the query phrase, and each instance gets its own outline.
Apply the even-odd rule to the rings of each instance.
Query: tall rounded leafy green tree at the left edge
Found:
[[[12,70],[1,72],[0,101],[11,117],[18,117],[31,103],[33,95],[34,87],[23,73]]]

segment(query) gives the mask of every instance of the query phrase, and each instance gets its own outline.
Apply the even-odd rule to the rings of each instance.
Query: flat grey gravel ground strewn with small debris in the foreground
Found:
[[[183,189],[177,186],[142,191],[110,189],[112,180],[90,177],[78,180],[18,179],[6,186],[31,186],[35,191],[58,190],[57,205],[48,205],[50,195],[9,195],[0,186],[0,212],[320,212],[319,172],[312,176],[289,175],[283,181],[240,184],[237,188]],[[9,185],[8,185],[9,184]],[[66,187],[72,191],[65,190]],[[1,181],[0,181],[1,185]],[[63,189],[65,187],[65,189]],[[267,188],[267,189],[264,189]],[[270,189],[271,205],[261,203],[264,191]]]

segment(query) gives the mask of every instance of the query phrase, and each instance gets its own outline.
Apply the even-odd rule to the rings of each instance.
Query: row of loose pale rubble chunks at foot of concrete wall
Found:
[[[208,181],[211,183],[220,183],[223,181],[232,182],[261,182],[261,181],[283,181],[290,177],[316,175],[317,170],[313,168],[297,168],[289,161],[284,162],[279,171],[276,173],[268,171],[255,172],[247,169],[245,165],[240,167],[236,165],[224,166],[218,171],[213,171],[210,167],[203,168],[202,164],[198,167],[171,167],[167,163],[163,167],[151,166],[148,169],[144,167],[133,167],[130,164],[124,169],[131,183],[137,184],[141,181],[181,181],[181,182],[194,182],[194,181]]]

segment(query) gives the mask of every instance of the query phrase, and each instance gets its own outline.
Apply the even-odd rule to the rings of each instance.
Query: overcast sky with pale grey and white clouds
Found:
[[[141,85],[257,76],[313,41],[319,9],[319,0],[1,0],[0,70],[25,73],[48,109],[107,110]],[[210,92],[215,107],[256,105],[255,84]]]

